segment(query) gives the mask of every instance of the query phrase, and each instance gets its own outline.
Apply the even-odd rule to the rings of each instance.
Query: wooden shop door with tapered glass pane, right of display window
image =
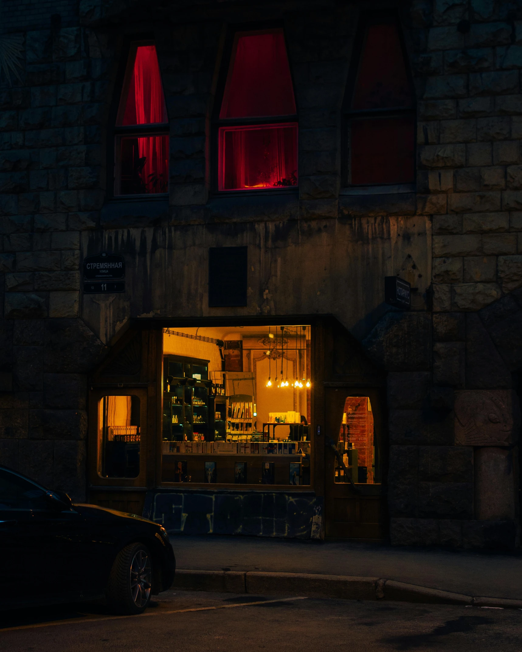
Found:
[[[362,451],[359,452],[359,462],[365,461],[366,466],[348,466],[350,473],[359,469],[358,477],[352,477],[354,488],[350,482],[344,480],[339,469],[339,462],[335,452],[328,445],[333,440],[335,447],[341,449],[340,439],[343,439],[343,428],[346,433],[345,406],[348,397],[359,397],[360,401],[354,398],[351,403],[363,404],[364,398],[369,399],[367,409],[373,413],[373,460],[372,453],[365,451],[367,460],[363,458]],[[382,397],[380,390],[354,387],[327,387],[325,394],[325,516],[326,516],[326,537],[339,537],[343,539],[359,539],[364,541],[375,541],[384,537],[383,528],[383,498],[382,498]],[[350,401],[348,401],[350,404]],[[341,437],[340,437],[341,435]],[[356,437],[355,437],[356,438]],[[351,460],[350,460],[351,457]],[[345,460],[350,464],[357,460],[356,454],[346,454]],[[370,464],[373,462],[373,464]],[[370,468],[373,466],[373,470]],[[337,481],[335,481],[335,469],[338,470]],[[361,473],[361,469],[365,469]]]

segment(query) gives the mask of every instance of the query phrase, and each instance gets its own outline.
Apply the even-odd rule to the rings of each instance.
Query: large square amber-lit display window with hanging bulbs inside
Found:
[[[162,481],[309,485],[310,327],[165,329]]]

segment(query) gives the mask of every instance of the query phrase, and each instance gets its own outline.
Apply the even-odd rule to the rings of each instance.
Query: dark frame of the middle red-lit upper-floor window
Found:
[[[290,68],[290,79],[292,80],[292,91],[294,93],[294,102],[296,103],[296,113],[288,115],[269,115],[264,117],[244,117],[244,118],[220,118],[221,106],[223,104],[224,91],[226,87],[226,80],[228,78],[228,70],[230,63],[232,63],[232,53],[234,51],[234,43],[236,37],[245,34],[265,34],[269,31],[283,32],[284,47],[286,56],[288,57],[288,67]],[[225,46],[223,48],[223,56],[221,58],[221,66],[219,70],[219,78],[215,94],[215,102],[211,117],[211,175],[210,175],[210,192],[213,196],[243,196],[243,195],[273,195],[273,194],[286,194],[288,192],[295,194],[299,192],[299,107],[296,97],[296,84],[294,82],[294,74],[288,53],[288,40],[282,22],[269,22],[269,23],[247,23],[235,25],[226,37]],[[277,125],[283,126],[288,123],[296,123],[298,128],[298,141],[297,141],[297,155],[298,155],[298,183],[295,186],[287,186],[282,188],[254,188],[254,189],[241,189],[241,190],[219,190],[219,130],[221,127],[241,127],[241,126],[266,126]]]

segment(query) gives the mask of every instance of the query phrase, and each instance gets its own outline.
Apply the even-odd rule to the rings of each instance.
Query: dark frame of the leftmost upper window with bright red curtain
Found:
[[[108,147],[110,152],[110,157],[108,160],[108,180],[107,188],[110,189],[110,198],[115,200],[125,200],[129,201],[131,199],[144,200],[158,200],[164,199],[169,196],[170,192],[170,160],[168,166],[168,190],[166,192],[146,192],[146,193],[134,193],[134,194],[122,194],[119,192],[119,185],[121,183],[121,139],[123,137],[135,137],[140,138],[144,136],[168,136],[170,138],[170,121],[166,123],[152,123],[150,125],[117,125],[117,119],[119,117],[119,107],[121,104],[121,98],[123,94],[128,91],[129,84],[131,82],[132,67],[129,65],[129,62],[134,61],[136,58],[136,51],[140,46],[153,45],[156,47],[156,41],[154,38],[130,38],[127,41],[127,44],[123,48],[122,52],[126,53],[126,57],[122,57],[121,65],[119,69],[117,83],[115,84],[115,89],[117,93],[114,93],[114,103],[111,111],[111,120],[110,125],[112,126],[112,132],[109,134],[110,139],[113,141],[114,145]],[[161,69],[160,69],[161,76]],[[162,80],[162,89],[163,89],[163,80]],[[163,95],[164,95],[163,89]],[[110,142],[110,141],[109,141]],[[170,158],[170,156],[169,156]]]

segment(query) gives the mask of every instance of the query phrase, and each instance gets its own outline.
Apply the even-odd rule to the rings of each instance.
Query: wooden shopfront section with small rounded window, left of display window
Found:
[[[147,490],[157,485],[161,469],[161,401],[157,390],[159,387],[161,392],[161,363],[161,327],[130,329],[89,378],[90,503],[141,514]],[[113,428],[112,467],[104,464],[103,458],[111,452],[110,447],[103,449],[107,432],[100,430],[105,427],[104,397],[112,397],[114,405],[110,408],[119,415],[114,423],[106,423]],[[125,402],[124,397],[127,421],[119,421],[125,413],[120,404]]]

